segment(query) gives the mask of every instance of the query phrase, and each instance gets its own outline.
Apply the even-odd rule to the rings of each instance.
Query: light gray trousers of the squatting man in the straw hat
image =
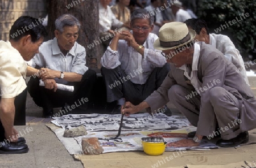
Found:
[[[191,93],[191,90],[181,85],[173,85],[168,91],[168,97],[176,106],[177,110],[185,115],[193,126],[197,127],[200,115],[201,97],[195,94],[195,96],[188,99],[186,96]],[[241,133],[239,129],[241,120],[238,120],[240,115],[238,99],[222,87],[210,88],[209,98],[216,115],[216,118],[213,118],[216,119],[214,123],[217,123],[217,129],[213,131],[212,135],[216,136],[217,134],[221,134],[221,138],[225,140],[232,139],[239,135],[239,133]]]

